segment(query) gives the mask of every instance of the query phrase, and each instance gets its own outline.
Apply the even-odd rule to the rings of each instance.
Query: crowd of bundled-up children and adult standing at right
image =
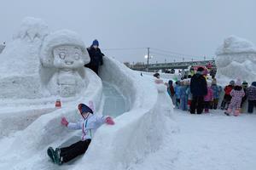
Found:
[[[231,80],[230,84],[222,88],[216,78],[207,80],[203,67],[198,68],[192,77],[177,82],[170,80],[166,85],[175,107],[191,114],[221,109],[227,116],[232,113],[239,116],[246,100],[248,113],[253,113],[253,107],[256,106],[256,82],[248,86],[246,81],[241,82],[238,78],[236,82]]]

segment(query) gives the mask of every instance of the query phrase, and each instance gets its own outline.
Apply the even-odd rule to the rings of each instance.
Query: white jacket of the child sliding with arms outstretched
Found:
[[[81,119],[79,122],[69,122],[67,127],[73,130],[82,129],[82,141],[92,139],[96,129],[106,122],[108,116],[98,116],[90,114],[86,119]]]

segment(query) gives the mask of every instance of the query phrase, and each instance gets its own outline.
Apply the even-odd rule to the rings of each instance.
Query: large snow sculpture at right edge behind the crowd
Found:
[[[227,83],[240,77],[247,82],[255,81],[256,47],[240,37],[231,36],[216,51],[217,78]]]

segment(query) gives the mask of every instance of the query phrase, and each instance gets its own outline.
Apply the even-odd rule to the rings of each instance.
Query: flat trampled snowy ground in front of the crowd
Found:
[[[254,170],[256,115],[225,116],[223,111],[190,115],[174,111],[177,129],[160,150],[131,169]],[[170,129],[173,131],[173,129]]]

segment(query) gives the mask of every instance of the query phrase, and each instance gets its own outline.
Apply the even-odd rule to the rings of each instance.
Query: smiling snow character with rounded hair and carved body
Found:
[[[84,42],[73,31],[55,31],[41,48],[41,79],[51,95],[72,97],[86,87],[84,65],[90,62]]]

